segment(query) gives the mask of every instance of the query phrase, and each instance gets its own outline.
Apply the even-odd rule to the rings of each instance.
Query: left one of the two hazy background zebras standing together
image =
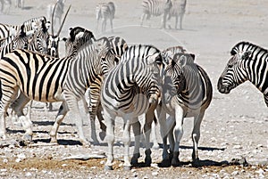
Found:
[[[144,0],[142,2],[143,14],[141,16],[140,26],[143,25],[145,18],[147,20],[151,18],[151,16],[160,16],[162,15],[162,25],[161,28],[165,28],[166,19],[171,12],[172,9],[172,1],[171,0]]]

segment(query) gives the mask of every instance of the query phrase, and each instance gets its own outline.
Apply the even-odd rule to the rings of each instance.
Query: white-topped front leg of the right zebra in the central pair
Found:
[[[179,166],[180,160],[179,160],[179,148],[180,148],[180,139],[183,134],[183,109],[177,105],[175,107],[175,128],[174,128],[174,134],[175,134],[175,146],[173,151],[173,157],[172,157],[172,166]]]

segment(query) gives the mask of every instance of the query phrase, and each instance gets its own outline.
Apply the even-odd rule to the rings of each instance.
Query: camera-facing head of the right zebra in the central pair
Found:
[[[166,53],[170,57],[170,61],[165,69],[163,102],[170,102],[173,96],[180,94],[186,88],[183,68],[187,63],[194,61],[195,55],[191,53]]]

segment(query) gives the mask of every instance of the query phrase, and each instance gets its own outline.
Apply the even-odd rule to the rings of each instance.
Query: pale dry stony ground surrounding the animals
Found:
[[[10,14],[0,15],[0,22],[20,24],[24,20],[46,15],[46,4],[51,1],[26,0],[25,9],[12,7]],[[199,142],[200,167],[191,167],[192,142],[190,133],[192,118],[186,118],[181,140],[181,167],[158,167],[162,149],[153,150],[152,167],[133,167],[122,170],[121,119],[116,126],[114,170],[105,172],[105,159],[63,160],[78,154],[95,154],[106,151],[106,143],[86,148],[78,142],[74,118],[67,116],[59,129],[59,145],[49,144],[49,130],[59,104],[54,111],[46,112],[44,104],[35,102],[32,120],[33,143],[21,146],[23,131],[7,118],[9,139],[1,142],[0,178],[268,178],[268,110],[263,95],[250,83],[240,85],[230,94],[217,92],[216,83],[226,62],[230,49],[245,40],[268,48],[268,2],[266,0],[189,0],[183,30],[160,29],[160,18],[139,27],[141,1],[113,0],[116,4],[114,33],[96,31],[95,6],[98,1],[67,0],[71,12],[63,27],[62,37],[68,28],[82,26],[91,29],[96,37],[121,36],[128,44],[151,44],[159,49],[182,45],[197,55],[200,64],[211,77],[214,97],[201,126]],[[65,8],[67,9],[67,7]],[[150,24],[150,27],[148,27]],[[171,22],[173,27],[173,20]],[[109,28],[109,26],[108,26]],[[64,55],[61,44],[61,56]],[[90,139],[88,114],[82,110],[85,131]],[[158,142],[161,139],[158,131]],[[13,143],[13,144],[11,144]],[[133,146],[130,148],[133,150]],[[144,148],[141,148],[144,159]],[[247,159],[250,164],[230,165],[231,159]]]

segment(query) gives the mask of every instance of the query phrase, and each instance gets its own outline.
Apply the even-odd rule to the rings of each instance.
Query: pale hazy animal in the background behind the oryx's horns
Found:
[[[57,0],[55,4],[48,4],[46,7],[46,15],[47,15],[48,20],[52,20],[53,18],[53,20],[57,21],[57,23],[60,26],[62,23],[64,4],[65,4],[65,0]],[[54,16],[52,15],[53,12],[54,12]]]

